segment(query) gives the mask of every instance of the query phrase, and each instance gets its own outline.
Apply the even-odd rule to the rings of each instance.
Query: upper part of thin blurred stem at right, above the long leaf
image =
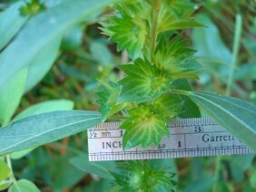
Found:
[[[233,82],[233,73],[234,73],[234,69],[237,64],[238,52],[239,52],[239,48],[240,48],[241,27],[242,27],[241,14],[236,14],[236,24],[235,24],[235,34],[234,34],[235,36],[234,36],[232,60],[231,60],[231,72],[230,72],[227,90],[226,90],[227,96],[231,95],[231,85]]]

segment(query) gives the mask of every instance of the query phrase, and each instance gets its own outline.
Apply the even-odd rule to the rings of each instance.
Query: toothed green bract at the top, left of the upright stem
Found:
[[[143,1],[121,4],[116,6],[116,16],[108,18],[109,23],[101,23],[103,34],[110,36],[111,42],[118,43],[117,51],[126,49],[132,58],[141,55],[148,31],[145,19],[149,18],[144,14],[149,9],[150,6]]]

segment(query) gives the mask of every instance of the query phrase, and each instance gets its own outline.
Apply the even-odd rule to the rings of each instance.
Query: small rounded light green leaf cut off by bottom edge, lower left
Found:
[[[12,185],[8,192],[40,192],[40,190],[29,180],[21,179]]]

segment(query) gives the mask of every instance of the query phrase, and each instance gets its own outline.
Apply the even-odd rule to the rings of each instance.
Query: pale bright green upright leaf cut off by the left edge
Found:
[[[27,70],[15,74],[0,90],[0,124],[6,125],[15,113],[24,93]]]

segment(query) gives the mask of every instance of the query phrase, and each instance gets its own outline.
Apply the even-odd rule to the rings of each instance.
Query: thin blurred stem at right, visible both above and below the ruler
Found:
[[[232,60],[231,60],[231,72],[230,72],[230,76],[227,84],[226,96],[231,95],[233,73],[238,61],[238,52],[240,48],[241,27],[242,27],[241,14],[236,14],[235,34],[234,34],[234,43],[233,43]],[[218,191],[218,182],[220,180],[221,169],[222,169],[222,156],[218,156],[215,161],[215,172],[214,172],[215,184],[213,186],[213,192]]]

